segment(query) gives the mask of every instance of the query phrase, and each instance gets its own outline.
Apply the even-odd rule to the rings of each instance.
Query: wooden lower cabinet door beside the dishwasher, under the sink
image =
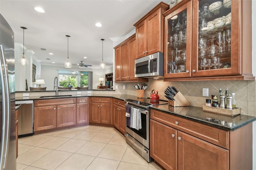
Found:
[[[34,131],[56,128],[56,106],[34,107]]]

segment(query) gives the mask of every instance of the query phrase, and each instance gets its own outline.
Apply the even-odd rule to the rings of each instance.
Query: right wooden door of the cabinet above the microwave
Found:
[[[162,25],[161,21],[163,17],[161,15],[161,8],[159,8],[156,12],[151,14],[147,18],[147,34],[146,34],[146,55],[150,55],[156,53],[158,51],[163,50],[161,46],[161,30]],[[162,33],[163,35],[163,33]],[[162,47],[162,50],[160,48]]]

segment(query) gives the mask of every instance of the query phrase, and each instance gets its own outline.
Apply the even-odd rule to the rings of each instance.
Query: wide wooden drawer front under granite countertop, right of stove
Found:
[[[229,149],[229,132],[226,130],[210,127],[152,109],[150,111],[150,118],[202,140]]]

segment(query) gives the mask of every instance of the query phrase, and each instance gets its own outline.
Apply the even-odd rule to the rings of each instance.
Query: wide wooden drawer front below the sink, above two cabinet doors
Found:
[[[72,103],[76,103],[76,98],[36,100],[34,101],[34,107],[66,105],[66,104],[72,104]]]

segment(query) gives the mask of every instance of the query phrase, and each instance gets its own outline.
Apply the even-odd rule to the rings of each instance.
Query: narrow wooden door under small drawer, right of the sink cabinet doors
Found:
[[[88,103],[76,104],[76,123],[88,123]]]

